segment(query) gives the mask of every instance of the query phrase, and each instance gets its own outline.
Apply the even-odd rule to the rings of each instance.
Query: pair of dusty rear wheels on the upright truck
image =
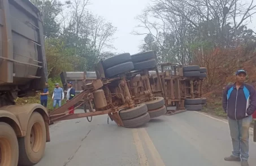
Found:
[[[45,121],[33,112],[25,137],[16,137],[12,127],[0,122],[0,166],[34,165],[44,156],[46,145]]]

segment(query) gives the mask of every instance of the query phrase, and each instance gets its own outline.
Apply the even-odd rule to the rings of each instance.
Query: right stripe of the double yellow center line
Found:
[[[140,130],[140,132],[142,133],[142,136],[145,139],[144,141],[147,145],[147,148],[150,151],[151,158],[154,161],[154,165],[155,166],[165,166],[159,152],[157,151],[157,148],[155,148],[154,143],[152,142],[151,138],[149,137],[149,134],[147,134],[146,129],[145,128],[140,128],[138,130]]]

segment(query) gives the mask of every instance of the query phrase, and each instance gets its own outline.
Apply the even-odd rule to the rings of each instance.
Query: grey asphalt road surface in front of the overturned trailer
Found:
[[[79,110],[78,110],[79,111]],[[137,129],[117,126],[107,116],[61,121],[50,127],[51,142],[37,166],[236,166],[227,122],[186,111],[161,116]],[[256,143],[250,137],[250,165]]]

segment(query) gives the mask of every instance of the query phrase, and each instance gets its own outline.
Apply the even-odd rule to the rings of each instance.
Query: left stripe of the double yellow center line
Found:
[[[141,139],[138,136],[138,130],[132,129],[132,134],[133,134],[134,144],[137,149],[138,159],[140,160],[140,165],[149,166],[144,148],[141,143]]]

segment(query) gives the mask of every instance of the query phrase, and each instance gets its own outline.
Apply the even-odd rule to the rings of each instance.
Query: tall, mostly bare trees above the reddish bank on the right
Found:
[[[216,46],[235,48],[255,40],[253,31],[246,28],[246,21],[255,14],[254,0],[248,5],[241,0],[153,2],[137,17],[141,24],[136,28],[148,30],[158,46],[160,59],[190,64],[195,58],[194,49],[203,56],[205,51],[212,51]],[[147,33],[136,31],[134,34]],[[210,47],[204,48],[205,43]],[[143,47],[145,45],[147,43]]]

